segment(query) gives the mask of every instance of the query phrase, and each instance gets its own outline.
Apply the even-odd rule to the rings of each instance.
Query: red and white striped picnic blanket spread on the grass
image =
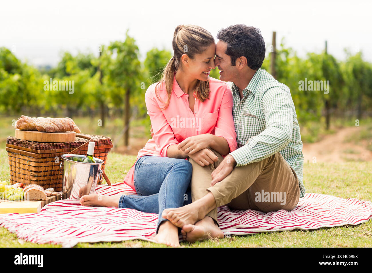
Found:
[[[97,194],[135,194],[125,183],[97,185]],[[86,207],[78,200],[45,205],[39,214],[0,214],[0,227],[33,243],[73,247],[79,242],[154,241],[158,214],[115,207]],[[248,235],[285,230],[357,225],[372,218],[372,204],[356,198],[307,193],[292,211],[260,212],[218,208],[218,222],[225,235]]]

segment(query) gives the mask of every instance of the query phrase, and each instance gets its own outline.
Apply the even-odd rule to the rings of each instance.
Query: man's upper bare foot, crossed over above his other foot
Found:
[[[167,208],[163,210],[161,217],[168,219],[173,225],[183,227],[188,224],[195,224],[199,219],[199,211],[194,208],[194,203],[180,207],[180,208]]]

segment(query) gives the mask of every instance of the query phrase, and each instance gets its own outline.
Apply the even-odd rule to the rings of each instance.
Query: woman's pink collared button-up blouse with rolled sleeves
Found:
[[[169,106],[163,108],[167,101],[167,91],[164,82],[158,85],[158,100],[155,94],[155,84],[150,85],[145,94],[147,113],[150,116],[154,136],[148,140],[145,147],[138,152],[138,158],[145,155],[167,156],[170,145],[179,144],[190,136],[199,134],[214,134],[224,137],[230,147],[230,152],[236,149],[236,133],[232,118],[232,92],[226,82],[209,77],[209,99],[203,103],[195,97],[194,113],[189,107],[189,95],[181,90],[176,78],[173,79],[173,92]],[[124,182],[134,191],[134,166],[124,178]]]

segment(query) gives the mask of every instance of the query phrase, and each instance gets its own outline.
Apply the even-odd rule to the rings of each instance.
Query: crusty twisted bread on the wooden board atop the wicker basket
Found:
[[[19,130],[31,130],[40,132],[65,132],[75,131],[80,133],[79,127],[69,118],[51,118],[51,117],[28,117],[21,116],[16,121],[15,127]]]

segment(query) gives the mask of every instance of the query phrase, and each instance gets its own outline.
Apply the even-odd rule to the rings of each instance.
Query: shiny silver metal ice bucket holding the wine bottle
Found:
[[[101,165],[103,160],[93,157],[96,163],[77,162],[72,159],[84,155],[61,155],[64,161],[62,199],[80,199],[81,196],[92,194],[96,189],[97,179],[102,181]],[[62,162],[60,164],[61,172]]]

